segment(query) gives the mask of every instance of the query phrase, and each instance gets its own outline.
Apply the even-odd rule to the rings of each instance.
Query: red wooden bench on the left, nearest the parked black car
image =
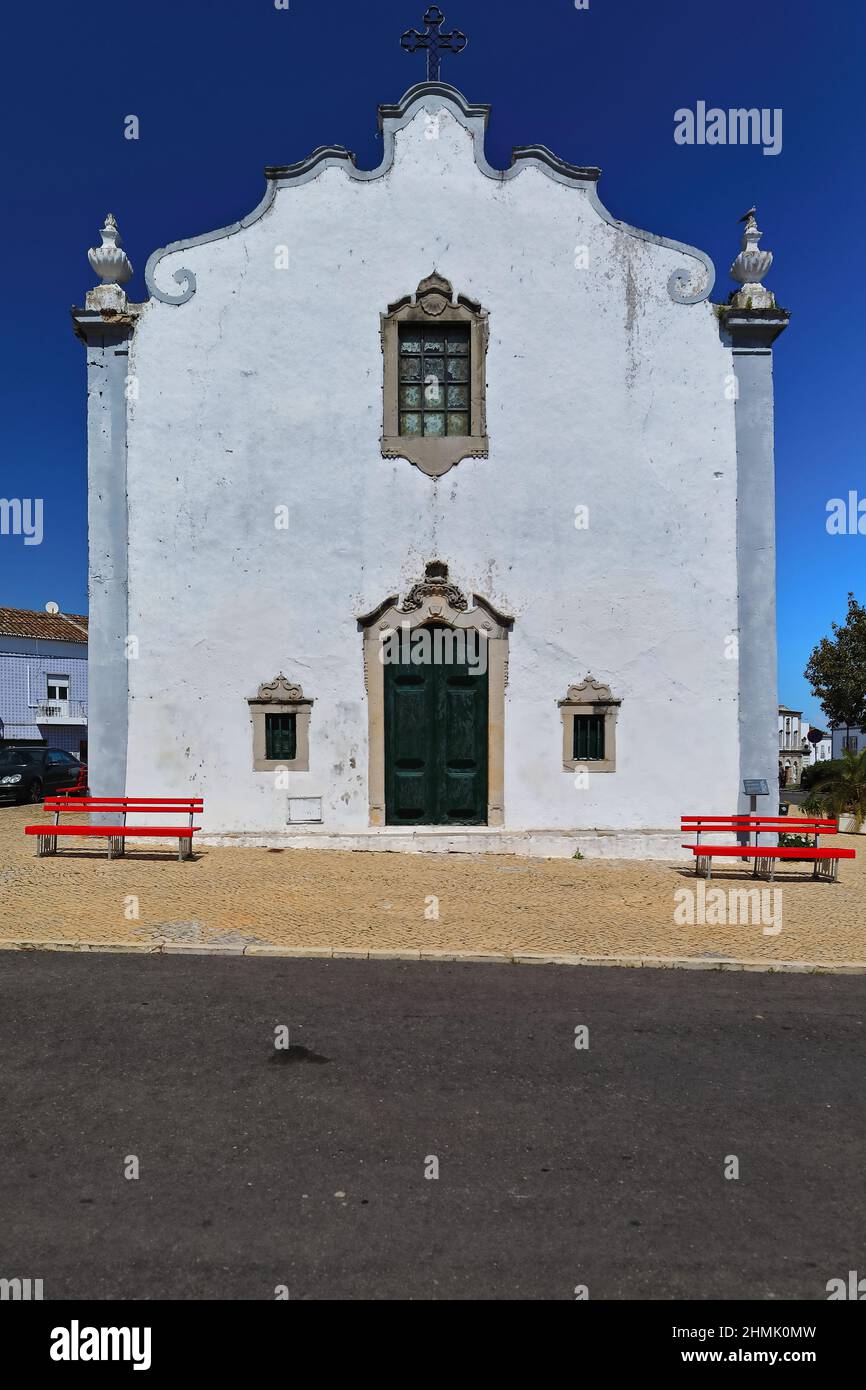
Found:
[[[125,841],[131,837],[178,841],[178,859],[192,859],[192,837],[200,826],[193,826],[193,816],[202,815],[204,801],[200,796],[46,796],[44,809],[54,812],[53,824],[25,826],[25,835],[36,835],[36,855],[57,853],[60,835],[101,838],[108,841],[108,859],[122,858]],[[64,810],[103,812],[120,817],[111,826],[61,824]],[[129,826],[126,816],[140,813],[161,816],[189,816],[186,826]]]

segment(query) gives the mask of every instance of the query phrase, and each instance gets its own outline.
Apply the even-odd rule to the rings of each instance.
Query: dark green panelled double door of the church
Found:
[[[389,826],[487,824],[487,671],[385,666]]]

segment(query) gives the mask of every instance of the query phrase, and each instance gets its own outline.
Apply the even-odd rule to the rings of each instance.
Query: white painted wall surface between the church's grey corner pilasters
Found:
[[[195,790],[211,831],[285,830],[246,705],[282,670],[316,701],[291,795],[322,796],[327,831],[364,830],[356,616],[441,559],[516,620],[507,830],[735,806],[731,354],[709,303],[669,297],[694,264],[539,170],[485,178],[448,111],[436,140],[423,113],[398,133],[385,177],[327,168],[247,229],[167,257],[161,281],[190,267],[197,291],[152,300],[131,356],[129,794]],[[379,311],[434,268],[491,316],[491,456],[439,481],[378,445]],[[575,791],[557,701],[588,671],[623,701],[619,766]]]

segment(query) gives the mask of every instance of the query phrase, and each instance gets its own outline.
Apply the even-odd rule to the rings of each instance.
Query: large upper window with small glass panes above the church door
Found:
[[[400,434],[468,435],[468,324],[400,327]]]

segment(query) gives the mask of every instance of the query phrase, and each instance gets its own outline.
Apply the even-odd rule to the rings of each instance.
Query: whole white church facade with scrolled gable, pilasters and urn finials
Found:
[[[714,306],[702,252],[545,147],[492,168],[487,121],[410,89],[378,168],[268,168],[142,304],[107,222],[93,791],[202,795],[224,842],[667,858],[777,788],[753,217]]]

